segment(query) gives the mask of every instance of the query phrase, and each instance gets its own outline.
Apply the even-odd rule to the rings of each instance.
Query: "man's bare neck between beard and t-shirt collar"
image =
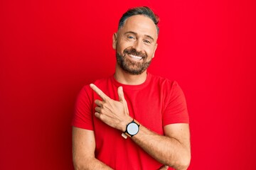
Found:
[[[139,85],[146,81],[146,71],[139,75],[133,75],[125,72],[119,65],[116,65],[114,78],[121,84]]]

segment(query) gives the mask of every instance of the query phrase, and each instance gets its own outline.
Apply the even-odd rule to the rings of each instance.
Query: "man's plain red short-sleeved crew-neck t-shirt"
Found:
[[[118,101],[117,88],[123,87],[129,115],[144,127],[164,135],[163,127],[171,123],[188,123],[188,111],[183,91],[176,81],[147,74],[139,85],[120,84],[114,75],[95,81],[95,85],[107,96]],[[90,86],[84,86],[78,96],[73,126],[95,132],[95,157],[113,169],[159,169],[162,164],[143,149],[125,140],[122,132],[111,128],[95,117],[96,99],[100,99]]]

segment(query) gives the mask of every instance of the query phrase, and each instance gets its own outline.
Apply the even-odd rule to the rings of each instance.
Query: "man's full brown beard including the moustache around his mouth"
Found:
[[[142,62],[129,60],[129,55],[136,55],[142,57]],[[147,55],[144,52],[137,52],[134,48],[127,48],[123,55],[116,52],[117,64],[127,73],[132,75],[142,74],[150,65],[151,60],[146,61]]]

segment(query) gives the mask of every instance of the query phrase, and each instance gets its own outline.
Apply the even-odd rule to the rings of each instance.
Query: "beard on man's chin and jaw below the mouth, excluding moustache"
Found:
[[[134,62],[126,57],[119,55],[116,52],[117,64],[127,73],[132,75],[142,74],[150,65],[151,60],[146,62],[146,58],[143,59],[143,62]]]

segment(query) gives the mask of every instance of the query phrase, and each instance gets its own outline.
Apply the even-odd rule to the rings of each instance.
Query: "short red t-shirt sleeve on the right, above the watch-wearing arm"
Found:
[[[171,84],[171,89],[167,92],[166,107],[164,109],[163,125],[173,123],[189,123],[186,98],[176,81]]]

